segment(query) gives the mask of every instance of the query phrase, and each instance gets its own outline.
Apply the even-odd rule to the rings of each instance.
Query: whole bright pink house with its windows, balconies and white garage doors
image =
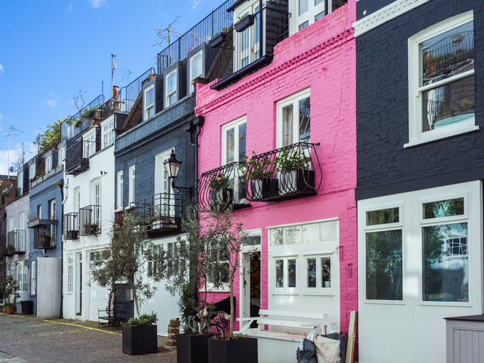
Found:
[[[327,312],[347,332],[357,310],[356,4],[335,3],[325,2],[325,16],[309,4],[309,20],[288,17],[274,38],[273,1],[243,1],[234,19],[255,19],[225,40],[231,72],[196,85],[200,202],[233,204],[258,250],[241,254],[236,317],[258,307]],[[221,176],[224,186],[210,185]],[[209,301],[227,295],[212,291]]]

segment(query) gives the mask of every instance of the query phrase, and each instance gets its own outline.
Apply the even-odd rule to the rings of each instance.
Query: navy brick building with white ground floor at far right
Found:
[[[484,3],[357,19],[359,362],[446,362],[444,318],[484,312]]]

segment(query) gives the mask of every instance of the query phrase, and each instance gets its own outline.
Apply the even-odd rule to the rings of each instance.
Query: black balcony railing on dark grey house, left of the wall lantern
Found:
[[[147,235],[178,231],[181,222],[181,194],[159,193],[130,204]]]

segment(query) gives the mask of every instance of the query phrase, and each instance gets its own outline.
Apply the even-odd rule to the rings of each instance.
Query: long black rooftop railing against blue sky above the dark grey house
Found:
[[[188,53],[209,41],[217,33],[222,33],[232,26],[233,14],[227,10],[233,5],[233,0],[224,2],[212,11],[202,21],[180,36],[167,48],[158,53],[158,74],[179,61],[183,61]]]

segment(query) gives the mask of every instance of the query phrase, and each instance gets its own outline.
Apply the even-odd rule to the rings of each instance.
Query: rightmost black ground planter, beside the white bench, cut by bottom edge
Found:
[[[209,363],[257,363],[257,339],[209,339]]]

